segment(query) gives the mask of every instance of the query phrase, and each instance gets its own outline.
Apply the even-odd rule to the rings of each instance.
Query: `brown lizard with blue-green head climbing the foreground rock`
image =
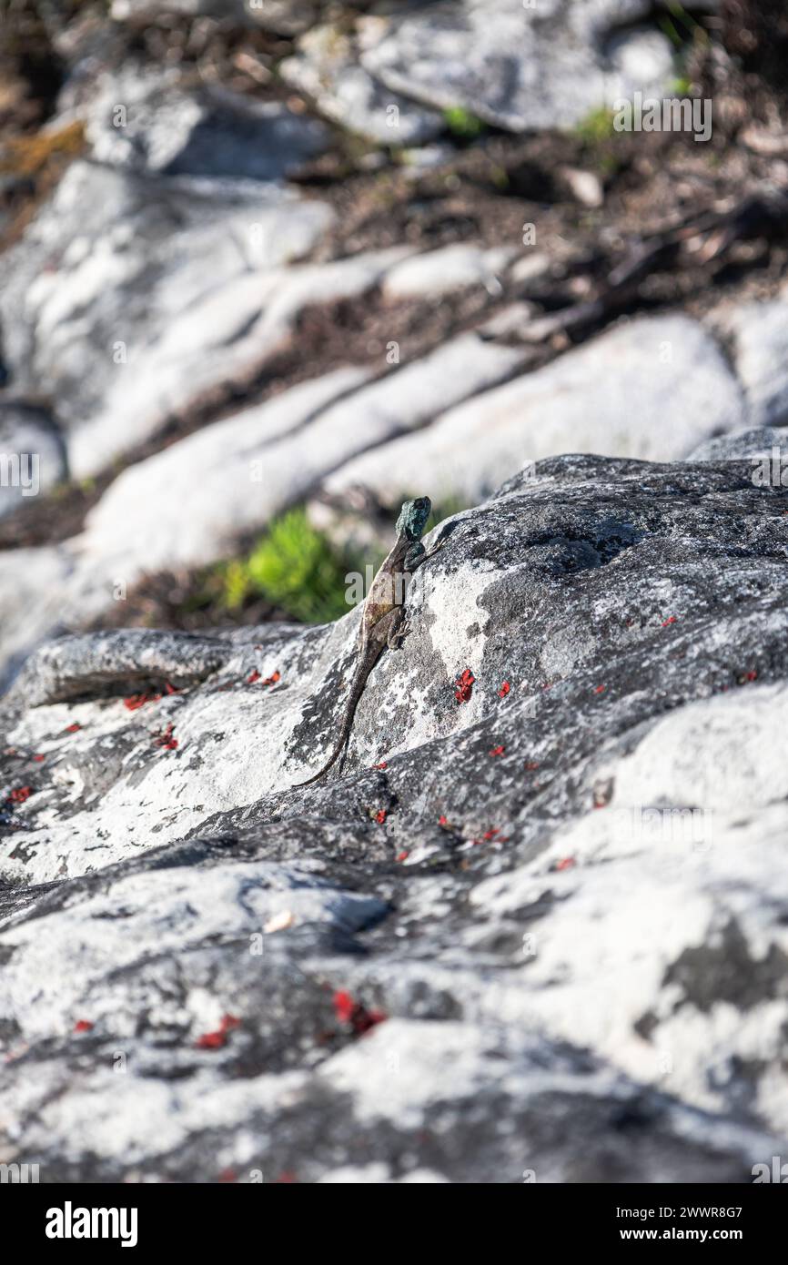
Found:
[[[369,592],[358,630],[355,670],[350,679],[348,698],[339,727],[339,736],[326,763],[319,773],[306,782],[296,782],[296,787],[309,787],[317,782],[336,763],[343,754],[353,729],[355,708],[367,684],[367,678],[383,650],[397,649],[402,644],[407,625],[405,621],[405,577],[412,576],[435,550],[426,549],[421,543],[424,528],[430,516],[433,502],[429,496],[419,496],[415,501],[405,501],[397,519],[395,540],[388,555],[381,563]]]

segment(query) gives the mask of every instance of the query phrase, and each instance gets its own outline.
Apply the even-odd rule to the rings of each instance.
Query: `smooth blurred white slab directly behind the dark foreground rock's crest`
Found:
[[[363,453],[328,488],[363,484],[387,498],[393,469],[401,487],[472,503],[553,452],[669,460],[742,420],[741,388],[703,329],[680,315],[640,318]]]

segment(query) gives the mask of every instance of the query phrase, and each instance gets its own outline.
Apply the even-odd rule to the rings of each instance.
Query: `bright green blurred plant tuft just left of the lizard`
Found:
[[[288,510],[245,558],[223,564],[221,601],[237,610],[257,593],[293,619],[326,624],[348,611],[352,569],[352,559],[310,525],[304,509]]]

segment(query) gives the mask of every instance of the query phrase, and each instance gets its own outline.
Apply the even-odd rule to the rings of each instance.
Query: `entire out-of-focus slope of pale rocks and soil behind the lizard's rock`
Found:
[[[788,421],[778,0],[0,15],[5,679],[66,629],[333,619],[409,492]],[[617,132],[635,92],[711,138]]]

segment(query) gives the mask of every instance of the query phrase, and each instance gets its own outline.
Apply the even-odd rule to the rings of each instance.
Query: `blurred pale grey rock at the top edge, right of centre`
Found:
[[[668,86],[664,35],[636,30],[612,39],[617,27],[649,11],[645,0],[430,4],[390,19],[362,66],[406,97],[459,106],[510,132],[567,128],[616,97]]]

